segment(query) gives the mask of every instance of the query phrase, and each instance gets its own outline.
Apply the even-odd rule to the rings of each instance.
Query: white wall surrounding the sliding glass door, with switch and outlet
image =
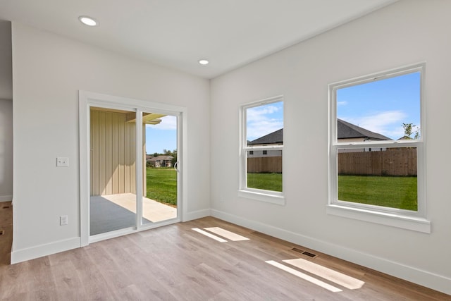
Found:
[[[80,246],[78,90],[187,108],[187,216],[209,214],[209,80],[13,23],[12,261]],[[56,168],[56,156],[70,166]],[[68,215],[68,226],[59,216]]]

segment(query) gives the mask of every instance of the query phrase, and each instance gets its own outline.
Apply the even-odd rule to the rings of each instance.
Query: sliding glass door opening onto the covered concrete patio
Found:
[[[178,113],[92,105],[89,116],[89,236],[176,221]]]

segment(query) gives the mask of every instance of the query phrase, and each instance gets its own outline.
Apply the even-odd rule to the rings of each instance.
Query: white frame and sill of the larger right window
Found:
[[[329,197],[327,213],[350,219],[358,219],[373,223],[380,223],[413,231],[431,233],[431,222],[426,216],[426,121],[424,102],[425,63],[416,63],[386,70],[359,78],[334,82],[328,85],[328,170],[329,170]],[[394,78],[409,73],[420,73],[420,130],[418,140],[387,140],[373,142],[338,142],[337,131],[337,90],[367,82]],[[416,147],[417,161],[417,211],[381,207],[371,204],[347,202],[338,199],[338,150],[352,148],[381,148],[381,147]]]

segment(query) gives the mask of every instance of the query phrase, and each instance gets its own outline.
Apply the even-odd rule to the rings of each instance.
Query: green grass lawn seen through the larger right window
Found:
[[[416,177],[338,176],[338,199],[416,211]]]

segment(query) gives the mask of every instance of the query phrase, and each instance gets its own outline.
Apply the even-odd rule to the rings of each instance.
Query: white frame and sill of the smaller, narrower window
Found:
[[[257,102],[251,102],[240,106],[240,184],[238,189],[238,196],[247,199],[254,199],[261,202],[268,202],[272,204],[285,205],[284,195],[284,177],[283,177],[283,145],[268,145],[268,146],[248,146],[247,145],[247,109],[266,104],[273,104],[276,102],[284,102],[283,95],[261,99]],[[283,104],[284,106],[284,104]],[[285,109],[284,109],[285,115]],[[284,124],[285,126],[285,124]],[[263,190],[257,188],[247,187],[247,152],[249,151],[270,151],[280,150],[282,152],[282,191]]]

